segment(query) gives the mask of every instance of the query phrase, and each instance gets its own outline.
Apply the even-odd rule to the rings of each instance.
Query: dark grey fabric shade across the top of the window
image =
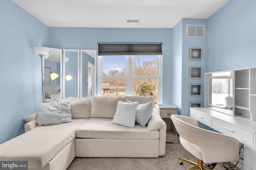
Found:
[[[162,55],[162,43],[100,43],[98,55]]]

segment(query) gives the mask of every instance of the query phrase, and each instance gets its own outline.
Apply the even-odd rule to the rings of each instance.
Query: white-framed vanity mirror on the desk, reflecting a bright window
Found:
[[[234,72],[206,74],[206,107],[234,115]]]

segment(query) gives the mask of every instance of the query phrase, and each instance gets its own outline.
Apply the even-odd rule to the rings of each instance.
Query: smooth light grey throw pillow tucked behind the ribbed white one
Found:
[[[130,103],[131,101],[126,99],[126,102]],[[138,103],[138,102],[136,102],[136,103]],[[138,123],[139,125],[141,125],[142,127],[145,127],[146,124],[148,123],[149,119],[151,118],[152,111],[153,111],[152,102],[149,102],[146,104],[139,104],[137,106],[135,122]]]

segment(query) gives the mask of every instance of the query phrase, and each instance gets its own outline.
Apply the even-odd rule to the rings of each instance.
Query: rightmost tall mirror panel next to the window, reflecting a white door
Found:
[[[80,98],[95,96],[94,89],[94,63],[96,50],[81,50],[80,52]]]

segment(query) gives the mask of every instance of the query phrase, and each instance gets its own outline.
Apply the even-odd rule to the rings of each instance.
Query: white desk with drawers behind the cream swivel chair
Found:
[[[191,107],[190,117],[244,144],[244,170],[256,170],[256,121],[204,107]]]

